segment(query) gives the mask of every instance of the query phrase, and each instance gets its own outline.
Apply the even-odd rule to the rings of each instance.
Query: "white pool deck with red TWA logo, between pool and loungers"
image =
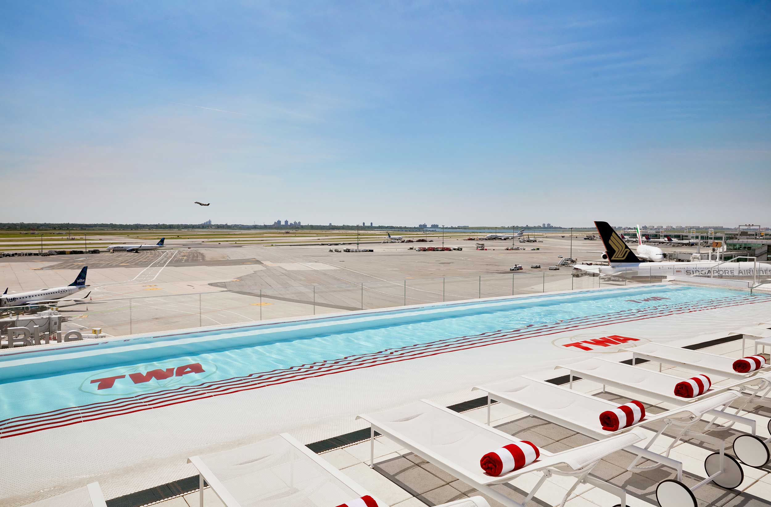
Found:
[[[637,338],[637,343],[656,341],[682,346],[725,337],[737,327],[769,320],[771,300],[621,324],[608,322],[580,331],[534,336],[3,438],[0,440],[0,469],[3,470],[0,504],[25,505],[94,481],[102,486],[106,499],[111,499],[195,475],[195,469],[186,463],[191,455],[234,448],[284,431],[301,442],[317,442],[367,427],[363,421],[355,421],[355,416],[362,413],[419,398],[452,405],[478,398],[478,393],[470,391],[473,385],[518,374],[557,376],[561,373],[555,374],[554,366],[570,358],[588,358],[601,353],[617,361],[631,357],[615,352],[612,347],[591,347],[593,350],[583,351],[564,347],[566,343],[621,335]],[[741,341],[732,341],[706,350],[740,357],[740,348]],[[677,368],[667,371],[692,376]],[[467,412],[480,420],[485,413],[484,409]],[[522,417],[513,409],[500,406],[495,408],[493,416],[495,424]],[[765,420],[759,424],[758,435],[768,436]],[[386,438],[377,439],[375,455],[379,460],[405,453]],[[681,444],[675,453],[677,456],[673,457],[681,459],[686,470],[703,475],[705,451],[702,448]],[[323,456],[389,505],[425,505],[364,464],[369,459],[369,442]],[[739,489],[771,499],[769,473],[743,468],[745,481]],[[532,478],[525,476],[518,480],[524,484]],[[550,483],[538,497],[545,502],[556,502],[564,493],[563,484],[560,478],[550,479]],[[206,505],[221,505],[212,492],[207,490],[205,496]],[[594,507],[615,503],[604,492],[584,485],[567,505]],[[198,495],[185,495],[160,505],[194,507],[198,505]],[[630,495],[628,505],[648,504]]]

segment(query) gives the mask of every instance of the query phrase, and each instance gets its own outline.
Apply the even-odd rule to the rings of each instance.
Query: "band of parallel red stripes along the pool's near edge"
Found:
[[[559,321],[555,324],[543,324],[532,327],[524,327],[509,331],[487,331],[486,333],[471,335],[467,337],[454,337],[445,340],[412,344],[399,349],[385,349],[384,351],[372,354],[362,354],[361,356],[352,356],[340,358],[333,361],[318,361],[299,367],[291,367],[283,370],[274,370],[261,373],[248,374],[244,377],[228,378],[220,381],[205,382],[194,386],[181,386],[172,390],[156,391],[145,393],[130,398],[118,398],[113,401],[97,402],[80,407],[58,409],[56,411],[44,412],[39,415],[25,415],[16,418],[9,418],[3,422],[11,424],[3,425],[0,428],[0,438],[10,438],[13,436],[25,435],[35,431],[45,429],[60,428],[62,426],[74,425],[79,422],[97,421],[103,418],[115,417],[116,415],[127,415],[138,411],[161,408],[170,405],[187,403],[214,396],[234,394],[242,391],[251,391],[269,387],[271,385],[286,384],[288,382],[305,380],[308,378],[318,378],[330,374],[338,374],[346,371],[355,371],[363,368],[372,368],[381,364],[392,364],[401,361],[409,361],[416,358],[426,358],[438,354],[446,354],[454,351],[470,350],[472,348],[487,347],[492,344],[507,343],[509,341],[524,340],[532,337],[543,337],[551,334],[559,334],[564,331],[589,329],[608,324],[620,324],[631,321],[641,321],[650,318],[665,317],[672,314],[684,314],[694,311],[712,310],[723,307],[743,306],[746,304],[756,304],[768,302],[768,299],[762,301],[748,301],[750,297],[726,297],[718,300],[695,301],[677,305],[658,305],[656,307],[647,307],[639,311],[619,311],[614,314],[604,314],[592,317],[576,317],[568,324],[568,321]],[[754,298],[752,298],[754,299]],[[730,300],[730,301],[726,301]],[[725,301],[725,302],[723,302]],[[716,303],[717,302],[717,303]],[[655,309],[655,311],[651,311]],[[583,321],[575,323],[574,321]],[[524,331],[524,332],[523,332]],[[65,411],[65,412],[62,412]],[[77,417],[72,417],[72,411],[77,412]],[[58,413],[57,412],[62,412]],[[55,415],[56,414],[56,415]],[[43,416],[43,417],[40,417]],[[25,424],[26,423],[26,424]]]

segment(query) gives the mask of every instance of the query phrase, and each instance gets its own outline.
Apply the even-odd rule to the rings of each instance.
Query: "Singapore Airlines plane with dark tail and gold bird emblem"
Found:
[[[605,247],[603,258],[610,267],[575,264],[574,268],[596,274],[626,274],[630,276],[665,277],[668,274],[685,276],[752,277],[771,276],[771,266],[752,262],[705,260],[702,262],[644,262],[632,253],[608,222],[594,222]]]

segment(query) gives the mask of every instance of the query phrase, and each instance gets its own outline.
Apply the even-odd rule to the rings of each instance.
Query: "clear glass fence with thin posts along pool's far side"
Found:
[[[255,287],[236,280],[224,284],[227,290],[88,301],[75,307],[62,307],[60,311],[69,315],[73,328],[100,327],[107,334],[122,336],[413,304],[622,287],[661,280],[639,276],[636,272],[634,276],[629,272],[610,277],[574,274],[577,272],[571,267],[563,267],[540,272],[280,288]]]

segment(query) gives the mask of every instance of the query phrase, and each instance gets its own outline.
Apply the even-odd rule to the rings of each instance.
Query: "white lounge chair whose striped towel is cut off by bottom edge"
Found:
[[[282,433],[261,442],[187,459],[198,469],[199,505],[204,486],[227,507],[336,507],[370,495],[291,435]],[[490,507],[481,496],[442,507]]]

